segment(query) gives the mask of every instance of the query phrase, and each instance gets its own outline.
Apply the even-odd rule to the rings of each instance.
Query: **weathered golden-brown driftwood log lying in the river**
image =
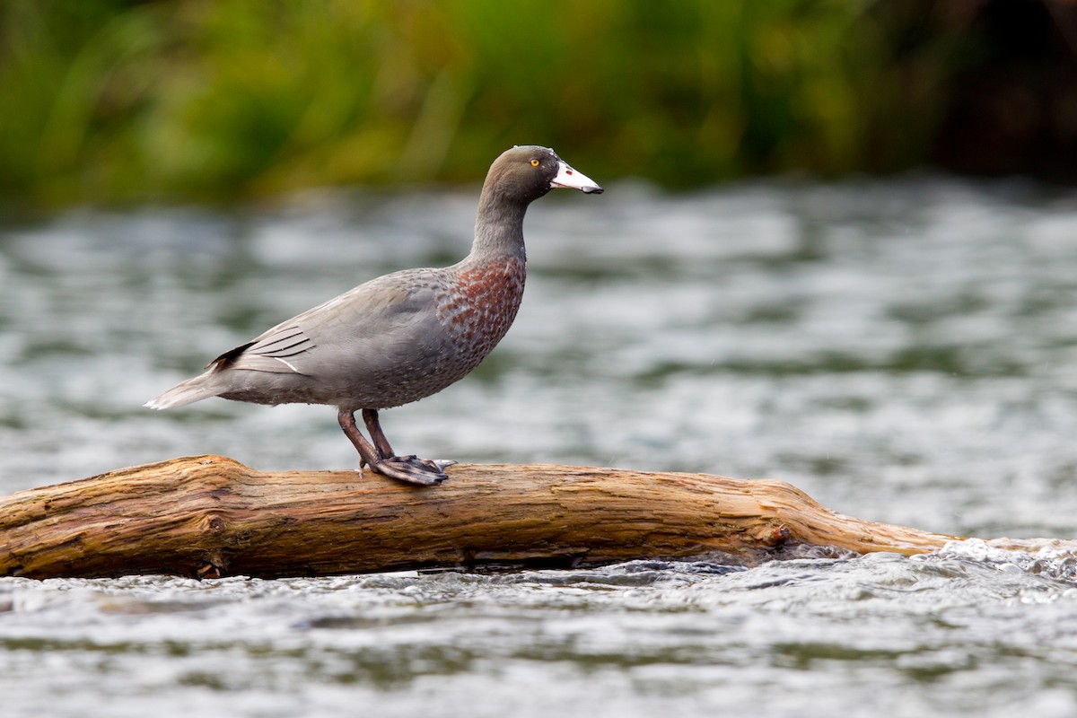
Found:
[[[321,576],[806,544],[913,554],[956,538],[841,516],[782,481],[553,465],[449,474],[416,489],[195,456],[31,489],[0,497],[0,575]]]

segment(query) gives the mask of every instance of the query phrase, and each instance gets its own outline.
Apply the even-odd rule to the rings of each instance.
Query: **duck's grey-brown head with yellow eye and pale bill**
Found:
[[[486,175],[482,194],[501,201],[529,205],[555,187],[598,194],[602,187],[569,167],[549,147],[521,145],[503,152]]]

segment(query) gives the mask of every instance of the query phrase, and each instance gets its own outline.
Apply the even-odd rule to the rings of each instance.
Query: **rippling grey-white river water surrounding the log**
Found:
[[[141,404],[374,276],[475,193],[9,220],[0,492],[176,455],[355,455],[326,407]],[[865,519],[1077,534],[1077,195],[933,177],[555,193],[474,375],[394,445],[784,479]],[[1077,564],[981,541],[755,567],[0,578],[4,716],[1077,715]]]

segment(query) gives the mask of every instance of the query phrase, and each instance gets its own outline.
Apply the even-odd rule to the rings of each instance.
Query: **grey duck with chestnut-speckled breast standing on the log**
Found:
[[[210,397],[336,407],[360,467],[417,487],[448,478],[452,460],[398,455],[379,411],[436,394],[467,376],[508,332],[523,297],[523,216],[551,189],[601,194],[549,147],[517,145],[490,166],[471,252],[449,267],[372,279],[224,352],[144,406]],[[363,435],[355,413],[363,419]]]

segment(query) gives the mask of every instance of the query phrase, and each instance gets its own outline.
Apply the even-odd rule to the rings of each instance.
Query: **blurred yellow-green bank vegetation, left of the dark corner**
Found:
[[[8,0],[0,195],[475,182],[530,143],[674,187],[898,169],[926,156],[937,83],[921,68],[922,102],[895,121],[908,76],[872,5]]]

